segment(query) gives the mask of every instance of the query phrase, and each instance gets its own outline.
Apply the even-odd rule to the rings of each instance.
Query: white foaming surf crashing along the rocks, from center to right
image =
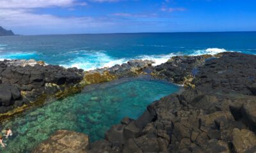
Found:
[[[111,57],[110,55],[106,54],[104,50],[76,50],[72,52],[67,52],[67,54],[77,54],[79,57],[75,59],[71,59],[68,64],[61,64],[66,68],[76,67],[82,68],[86,71],[97,69],[97,68],[104,68],[104,67],[111,67],[115,66],[115,64],[122,64],[132,59],[143,59],[143,60],[152,60],[156,63],[153,64],[154,66],[162,64],[171,57],[175,55],[204,55],[204,54],[218,54],[221,52],[228,52],[223,48],[207,48],[205,50],[194,50],[188,54],[177,52],[177,53],[170,53],[164,55],[139,55],[134,58],[120,58],[117,59],[115,57]]]

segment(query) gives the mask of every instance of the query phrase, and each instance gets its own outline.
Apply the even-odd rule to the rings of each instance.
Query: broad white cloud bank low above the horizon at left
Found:
[[[113,22],[105,18],[93,17],[58,17],[49,14],[35,14],[32,10],[10,10],[0,9],[0,25],[7,29],[17,29],[17,34],[43,34],[42,30],[47,33],[65,33],[65,31],[73,31],[77,33],[79,30],[90,31],[93,29],[104,28],[113,25]],[[60,28],[61,27],[61,28]],[[20,29],[28,31],[22,33]],[[29,32],[29,29],[33,29]]]

